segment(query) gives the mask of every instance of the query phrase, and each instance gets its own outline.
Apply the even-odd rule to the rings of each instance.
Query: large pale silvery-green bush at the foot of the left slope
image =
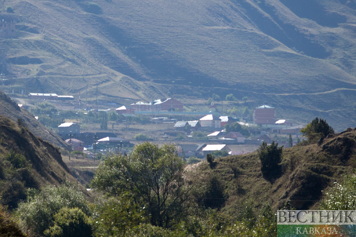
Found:
[[[46,186],[42,191],[30,189],[26,202],[19,205],[16,215],[24,227],[42,235],[54,225],[54,216],[62,208],[79,208],[85,215],[91,216],[88,201],[82,192],[68,183],[59,187]]]

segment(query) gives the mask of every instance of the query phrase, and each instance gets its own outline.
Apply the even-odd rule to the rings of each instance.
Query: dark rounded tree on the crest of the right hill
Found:
[[[334,134],[334,129],[329,126],[326,120],[316,117],[305,126],[301,132],[308,138],[309,142],[317,142],[319,139],[324,139],[328,134]]]

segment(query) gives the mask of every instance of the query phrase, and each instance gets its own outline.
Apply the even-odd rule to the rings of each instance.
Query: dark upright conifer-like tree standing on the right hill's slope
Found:
[[[263,142],[257,149],[257,154],[261,160],[261,172],[265,178],[275,178],[280,175],[283,146],[278,147],[278,143],[273,141],[271,145]]]

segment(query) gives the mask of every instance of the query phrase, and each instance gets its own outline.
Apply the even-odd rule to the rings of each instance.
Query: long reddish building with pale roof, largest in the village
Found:
[[[173,98],[156,99],[150,103],[137,102],[130,105],[134,111],[179,111],[183,112],[183,104]]]

